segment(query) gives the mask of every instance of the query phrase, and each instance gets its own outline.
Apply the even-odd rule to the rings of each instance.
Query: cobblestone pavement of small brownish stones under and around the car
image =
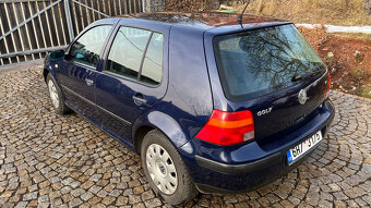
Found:
[[[187,207],[371,207],[371,101],[340,93],[324,142],[256,191],[200,194]],[[169,207],[140,157],[76,114],[53,112],[41,69],[0,72],[0,206]]]

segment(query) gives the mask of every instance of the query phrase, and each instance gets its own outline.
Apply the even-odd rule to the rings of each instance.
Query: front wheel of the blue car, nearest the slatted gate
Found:
[[[70,113],[71,109],[65,106],[62,91],[60,90],[55,77],[50,73],[47,75],[46,83],[51,105],[55,107],[56,112],[59,114]]]

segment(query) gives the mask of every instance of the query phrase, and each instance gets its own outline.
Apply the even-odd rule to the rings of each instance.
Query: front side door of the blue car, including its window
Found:
[[[94,86],[100,53],[112,25],[95,26],[77,38],[70,47],[60,66],[59,81],[72,108],[89,119],[97,119]]]

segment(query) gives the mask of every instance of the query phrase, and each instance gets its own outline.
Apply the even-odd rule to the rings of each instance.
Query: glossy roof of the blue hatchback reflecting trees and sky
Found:
[[[187,26],[203,30],[223,30],[230,32],[241,28],[238,20],[239,14],[229,14],[223,12],[156,12],[156,13],[139,13],[116,16],[117,19],[136,19],[143,21],[154,21],[159,24],[170,24],[175,26]],[[249,27],[263,27],[266,25],[280,25],[290,22],[280,21],[273,17],[256,16],[244,14],[242,17],[242,26],[244,29]],[[216,29],[217,28],[217,29]],[[220,29],[223,28],[223,29]]]

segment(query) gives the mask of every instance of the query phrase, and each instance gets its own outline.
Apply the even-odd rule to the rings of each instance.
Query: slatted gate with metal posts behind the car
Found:
[[[0,66],[43,59],[96,20],[139,12],[142,0],[0,0]]]

